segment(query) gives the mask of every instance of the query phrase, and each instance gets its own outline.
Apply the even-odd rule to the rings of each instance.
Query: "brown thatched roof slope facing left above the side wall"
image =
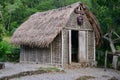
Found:
[[[79,3],[65,8],[37,12],[31,15],[29,19],[14,32],[11,43],[15,45],[39,47],[48,46],[66,26],[70,15],[77,6],[79,6]],[[100,35],[100,31],[97,32],[97,36],[100,37]]]

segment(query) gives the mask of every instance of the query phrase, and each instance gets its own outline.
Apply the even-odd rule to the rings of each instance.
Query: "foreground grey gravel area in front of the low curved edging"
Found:
[[[65,70],[65,73],[45,73],[41,75],[25,76],[11,80],[76,80],[80,76],[93,76],[94,79],[89,80],[108,80],[111,77],[116,77],[120,80],[120,72],[108,69],[104,71],[101,68],[81,68],[74,70]]]

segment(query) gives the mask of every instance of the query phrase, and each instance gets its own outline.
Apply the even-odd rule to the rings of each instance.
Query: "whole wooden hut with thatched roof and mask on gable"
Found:
[[[20,45],[21,63],[93,63],[101,30],[88,7],[74,3],[31,15],[14,32],[11,43]]]

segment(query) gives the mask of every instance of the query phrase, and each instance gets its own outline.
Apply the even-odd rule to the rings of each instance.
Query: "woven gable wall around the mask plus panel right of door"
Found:
[[[91,24],[88,22],[86,15],[84,14],[83,25],[77,24],[77,14],[74,12],[71,14],[70,19],[65,27],[67,30],[85,31],[86,37],[86,51],[87,61],[95,61],[95,34],[93,32]]]

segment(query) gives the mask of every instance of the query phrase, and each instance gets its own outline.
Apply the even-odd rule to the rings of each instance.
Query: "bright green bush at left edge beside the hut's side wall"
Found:
[[[10,45],[7,41],[0,42],[0,61],[19,61],[20,50],[18,47]]]

